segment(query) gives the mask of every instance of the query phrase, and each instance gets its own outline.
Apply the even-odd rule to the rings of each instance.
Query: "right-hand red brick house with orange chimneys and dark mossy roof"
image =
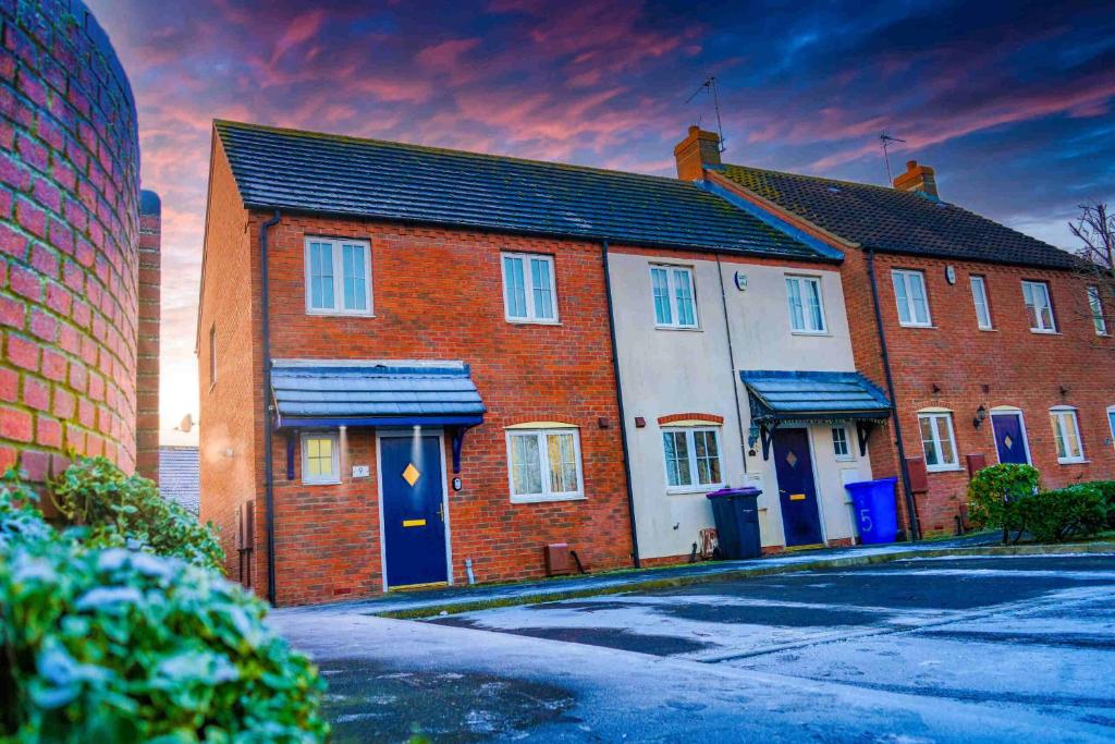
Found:
[[[888,189],[706,147],[682,177],[844,252],[856,368],[895,404],[872,462],[909,528],[956,530],[985,463],[1031,463],[1047,487],[1115,475],[1115,341],[1072,254],[943,201],[913,161]]]

